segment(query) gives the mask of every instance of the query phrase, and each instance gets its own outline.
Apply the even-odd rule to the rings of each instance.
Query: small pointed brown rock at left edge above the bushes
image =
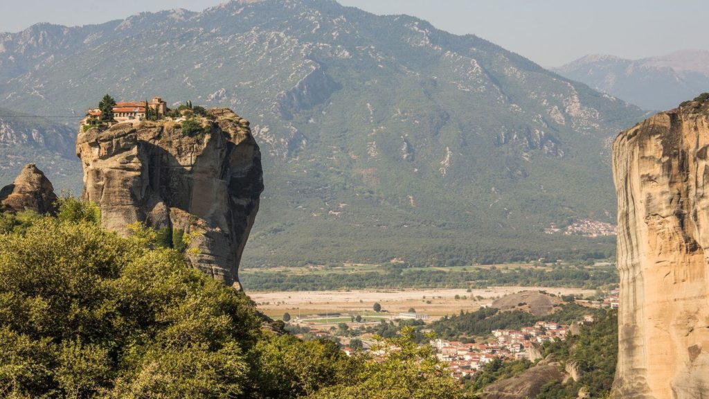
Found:
[[[24,210],[53,213],[56,201],[52,183],[34,163],[25,165],[14,182],[0,190],[2,209],[11,213]]]

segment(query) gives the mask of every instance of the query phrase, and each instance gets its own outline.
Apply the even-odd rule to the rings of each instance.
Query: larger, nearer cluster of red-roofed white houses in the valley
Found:
[[[593,322],[593,316],[585,316],[584,322]],[[540,344],[555,339],[563,340],[567,332],[568,329],[561,324],[537,322],[534,327],[523,327],[520,330],[493,330],[493,338],[485,343],[464,344],[433,339],[430,344],[437,358],[449,364],[453,376],[462,378],[476,373],[494,359],[539,359]]]

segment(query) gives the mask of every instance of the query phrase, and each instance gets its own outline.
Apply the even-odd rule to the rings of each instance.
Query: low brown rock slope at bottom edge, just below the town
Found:
[[[549,356],[517,376],[490,384],[483,390],[482,397],[485,399],[535,398],[545,384],[564,380],[565,375],[559,371],[559,368],[561,364],[553,356]]]

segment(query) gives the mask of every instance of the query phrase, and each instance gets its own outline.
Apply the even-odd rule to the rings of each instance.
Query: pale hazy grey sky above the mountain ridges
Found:
[[[140,11],[201,11],[220,0],[0,0],[0,31],[37,22],[83,25]],[[586,54],[623,58],[709,48],[707,0],[340,0],[373,13],[407,13],[474,33],[544,66]]]

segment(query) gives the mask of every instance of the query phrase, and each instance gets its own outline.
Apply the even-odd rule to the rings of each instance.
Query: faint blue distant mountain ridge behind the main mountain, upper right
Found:
[[[709,91],[708,50],[681,50],[642,60],[586,55],[554,71],[642,109],[671,109]]]

